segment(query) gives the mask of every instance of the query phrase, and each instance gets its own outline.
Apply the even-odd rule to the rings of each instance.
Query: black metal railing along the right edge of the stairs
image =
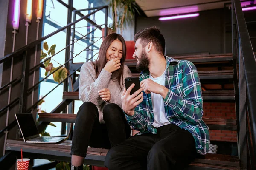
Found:
[[[252,158],[255,158],[256,153],[256,58],[240,0],[232,0],[232,38],[232,53],[239,63],[237,113],[240,167],[255,169],[255,159]]]

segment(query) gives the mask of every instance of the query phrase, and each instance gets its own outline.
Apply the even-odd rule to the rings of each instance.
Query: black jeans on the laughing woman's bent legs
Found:
[[[99,123],[99,112],[91,102],[84,102],[77,113],[71,155],[86,156],[87,148],[110,148],[120,144],[130,136],[130,126],[122,109],[116,104],[103,108],[105,124]]]

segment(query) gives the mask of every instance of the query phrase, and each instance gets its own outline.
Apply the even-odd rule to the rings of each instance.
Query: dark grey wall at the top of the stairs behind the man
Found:
[[[159,17],[137,17],[135,32],[150,26],[160,27],[166,40],[166,54],[210,54],[231,52],[231,10],[215,9],[201,11],[200,16],[177,20],[159,21]],[[256,11],[250,11],[246,20],[256,20]],[[251,36],[256,33],[256,24],[248,29]],[[230,29],[229,29],[230,28]],[[255,40],[252,40],[255,42]],[[253,43],[255,46],[256,43]],[[255,48],[256,49],[256,48]]]

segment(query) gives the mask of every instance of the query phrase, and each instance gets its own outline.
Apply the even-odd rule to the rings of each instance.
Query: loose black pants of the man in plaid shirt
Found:
[[[197,156],[192,134],[169,124],[157,134],[132,136],[107,153],[109,170],[180,170]]]

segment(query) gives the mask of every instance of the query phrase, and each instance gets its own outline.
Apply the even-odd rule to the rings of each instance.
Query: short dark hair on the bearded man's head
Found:
[[[152,42],[156,51],[160,54],[164,54],[165,40],[163,34],[161,34],[157,26],[145,28],[137,32],[134,35],[134,42],[136,42],[138,39],[141,40],[143,48],[148,44],[148,42]]]

